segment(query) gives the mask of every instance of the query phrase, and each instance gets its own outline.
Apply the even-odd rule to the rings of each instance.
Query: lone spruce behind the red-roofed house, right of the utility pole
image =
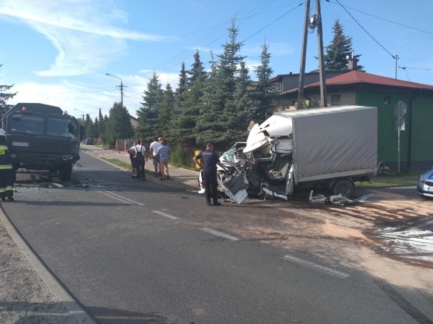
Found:
[[[344,34],[343,26],[339,20],[335,20],[332,26],[334,37],[331,43],[325,47],[325,55],[323,60],[325,62],[325,70],[337,71],[348,68],[347,57],[352,57],[353,45],[352,37],[347,37]],[[354,55],[354,58],[360,57],[360,54]],[[358,70],[362,70],[363,66],[358,65]]]

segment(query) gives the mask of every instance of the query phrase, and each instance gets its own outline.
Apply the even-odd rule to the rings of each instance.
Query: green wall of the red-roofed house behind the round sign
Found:
[[[388,102],[385,102],[387,98]],[[387,92],[358,90],[356,104],[378,107],[378,159],[387,164],[398,163],[410,169],[433,166],[433,93]],[[394,107],[398,101],[407,105],[405,130],[398,131]]]

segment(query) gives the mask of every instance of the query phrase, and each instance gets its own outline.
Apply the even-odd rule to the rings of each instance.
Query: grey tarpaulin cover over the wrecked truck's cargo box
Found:
[[[331,107],[281,115],[292,120],[298,181],[315,174],[377,167],[377,107]]]

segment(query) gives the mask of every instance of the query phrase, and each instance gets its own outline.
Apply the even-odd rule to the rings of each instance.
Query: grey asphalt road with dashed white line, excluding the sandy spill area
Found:
[[[5,212],[99,323],[432,322],[430,296],[230,230],[272,222],[266,202],[208,207],[86,154],[69,187],[20,176]]]

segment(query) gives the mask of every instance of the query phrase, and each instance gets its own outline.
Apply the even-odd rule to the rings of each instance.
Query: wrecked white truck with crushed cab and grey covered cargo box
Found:
[[[219,190],[237,203],[248,195],[287,199],[300,188],[351,197],[355,182],[377,173],[377,115],[377,107],[335,106],[252,123],[247,141],[220,158]]]

